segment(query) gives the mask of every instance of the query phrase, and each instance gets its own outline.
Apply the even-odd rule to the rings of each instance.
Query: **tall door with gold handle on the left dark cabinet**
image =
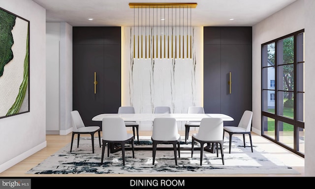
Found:
[[[92,118],[104,112],[104,46],[74,45],[73,52],[73,109],[86,125],[100,125]]]

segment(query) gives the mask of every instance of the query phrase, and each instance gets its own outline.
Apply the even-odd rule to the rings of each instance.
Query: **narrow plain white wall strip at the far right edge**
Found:
[[[305,176],[315,176],[315,0],[305,1]]]

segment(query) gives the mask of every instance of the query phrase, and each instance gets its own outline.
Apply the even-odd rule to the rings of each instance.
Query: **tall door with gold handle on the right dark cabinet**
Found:
[[[252,109],[251,73],[251,45],[221,46],[221,113],[234,118],[233,123],[226,124],[237,126],[243,112]]]

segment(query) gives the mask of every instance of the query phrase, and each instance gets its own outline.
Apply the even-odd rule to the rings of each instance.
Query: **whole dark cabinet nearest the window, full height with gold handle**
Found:
[[[204,109],[233,126],[252,110],[252,27],[204,27]]]

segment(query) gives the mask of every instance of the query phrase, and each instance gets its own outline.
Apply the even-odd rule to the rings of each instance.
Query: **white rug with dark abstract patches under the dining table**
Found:
[[[204,151],[203,162],[200,165],[200,151],[194,150],[191,158],[191,140],[181,142],[180,158],[175,165],[174,151],[160,148],[172,147],[158,144],[155,165],[152,164],[152,150],[141,148],[152,147],[150,136],[141,136],[139,143],[135,140],[135,158],[132,151],[126,150],[126,162],[123,166],[122,152],[110,153],[107,157],[107,146],[103,164],[101,164],[101,148],[98,138],[95,138],[95,153],[92,153],[90,138],[81,137],[79,148],[73,142],[70,153],[70,143],[50,156],[37,166],[30,169],[28,174],[300,174],[283,162],[273,158],[268,152],[253,145],[253,153],[249,143],[246,148],[238,136],[232,137],[231,154],[228,153],[228,138],[224,139],[224,165],[221,154]],[[131,144],[127,144],[130,147]],[[200,147],[199,143],[195,147]],[[186,149],[187,148],[187,149]]]

